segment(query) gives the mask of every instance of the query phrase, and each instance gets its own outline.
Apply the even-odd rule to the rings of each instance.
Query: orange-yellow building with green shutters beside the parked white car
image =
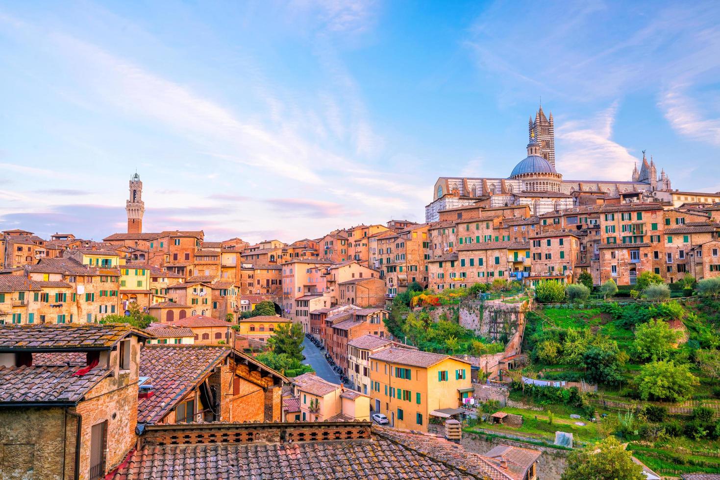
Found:
[[[453,409],[472,395],[470,363],[448,355],[387,348],[370,356],[374,412],[397,428],[428,431],[430,416]]]

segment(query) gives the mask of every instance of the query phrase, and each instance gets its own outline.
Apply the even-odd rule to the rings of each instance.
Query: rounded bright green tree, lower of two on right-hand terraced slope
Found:
[[[688,364],[657,361],[642,366],[634,384],[643,400],[682,402],[693,395],[693,387],[698,386],[700,381],[690,373]]]

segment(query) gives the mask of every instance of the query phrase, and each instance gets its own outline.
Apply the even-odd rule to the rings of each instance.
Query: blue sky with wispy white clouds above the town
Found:
[[[0,1],[0,228],[221,240],[422,221],[507,176],[542,98],[564,178],[720,190],[720,4]]]

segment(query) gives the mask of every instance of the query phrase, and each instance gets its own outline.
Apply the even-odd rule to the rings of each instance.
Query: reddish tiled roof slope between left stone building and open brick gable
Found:
[[[145,345],[140,376],[149,377],[154,394],[138,399],[138,423],[161,420],[230,351],[215,345]]]

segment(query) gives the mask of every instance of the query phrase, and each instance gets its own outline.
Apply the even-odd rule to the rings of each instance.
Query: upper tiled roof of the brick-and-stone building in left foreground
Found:
[[[130,333],[153,337],[125,324],[2,325],[0,350],[109,350]]]

